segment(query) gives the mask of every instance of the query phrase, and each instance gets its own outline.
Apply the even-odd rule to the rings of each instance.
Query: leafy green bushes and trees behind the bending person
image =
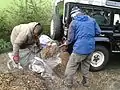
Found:
[[[43,25],[43,33],[49,35],[52,2],[52,0],[1,0],[0,53],[11,49],[11,31],[14,26],[21,23],[40,22]]]

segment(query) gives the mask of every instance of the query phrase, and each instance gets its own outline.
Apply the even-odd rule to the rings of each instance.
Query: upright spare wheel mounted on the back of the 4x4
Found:
[[[51,38],[54,40],[60,40],[63,36],[62,20],[57,14],[53,15],[53,19],[51,21],[50,35]]]

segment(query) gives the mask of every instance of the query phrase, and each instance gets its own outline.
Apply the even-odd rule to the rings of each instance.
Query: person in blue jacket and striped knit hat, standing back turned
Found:
[[[72,22],[68,30],[68,39],[65,45],[74,43],[73,51],[65,70],[65,84],[72,86],[73,76],[81,63],[81,72],[83,75],[83,86],[89,86],[89,56],[95,50],[96,35],[101,33],[101,29],[96,21],[85,15],[78,7],[73,7],[71,11]]]

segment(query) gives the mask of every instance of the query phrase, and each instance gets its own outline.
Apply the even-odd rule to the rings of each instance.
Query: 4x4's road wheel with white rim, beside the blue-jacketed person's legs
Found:
[[[99,71],[105,67],[109,60],[109,51],[104,46],[96,46],[95,52],[91,56],[90,71]]]

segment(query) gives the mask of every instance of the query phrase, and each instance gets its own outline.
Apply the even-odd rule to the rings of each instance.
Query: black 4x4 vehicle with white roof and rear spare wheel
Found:
[[[91,57],[91,70],[105,67],[112,53],[120,53],[120,1],[119,0],[57,0],[51,21],[51,37],[61,40],[67,37],[72,7],[80,7],[96,19],[102,33],[96,36],[96,50]]]

